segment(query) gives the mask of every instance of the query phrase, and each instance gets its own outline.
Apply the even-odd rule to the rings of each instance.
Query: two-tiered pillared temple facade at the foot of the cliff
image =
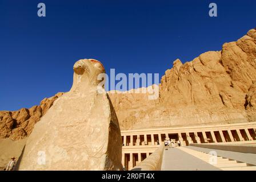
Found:
[[[224,143],[256,140],[256,122],[226,125],[162,127],[141,130],[123,130],[122,164],[129,170],[153,153],[165,138],[191,143]]]

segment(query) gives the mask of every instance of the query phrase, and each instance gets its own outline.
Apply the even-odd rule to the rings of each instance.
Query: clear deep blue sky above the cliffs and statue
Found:
[[[218,17],[208,15],[211,2]],[[73,64],[83,58],[101,61],[107,73],[161,77],[175,59],[220,50],[256,27],[255,7],[255,0],[0,0],[0,110],[69,91]]]

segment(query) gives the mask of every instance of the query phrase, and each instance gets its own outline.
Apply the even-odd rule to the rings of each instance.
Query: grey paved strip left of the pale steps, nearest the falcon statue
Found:
[[[179,150],[179,147],[169,148],[163,153],[163,171],[217,171],[217,167],[195,158],[193,155]]]

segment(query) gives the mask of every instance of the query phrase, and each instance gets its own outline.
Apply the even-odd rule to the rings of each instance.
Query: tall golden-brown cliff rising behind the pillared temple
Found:
[[[256,121],[256,30],[222,51],[177,59],[159,84],[159,99],[110,94],[122,130]]]

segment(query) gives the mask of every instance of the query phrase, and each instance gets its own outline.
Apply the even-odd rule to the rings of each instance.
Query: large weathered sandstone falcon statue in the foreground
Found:
[[[70,92],[55,100],[34,126],[19,170],[122,170],[118,119],[107,93],[97,87],[104,71],[97,60],[74,64]],[[38,154],[45,163],[38,162]]]

